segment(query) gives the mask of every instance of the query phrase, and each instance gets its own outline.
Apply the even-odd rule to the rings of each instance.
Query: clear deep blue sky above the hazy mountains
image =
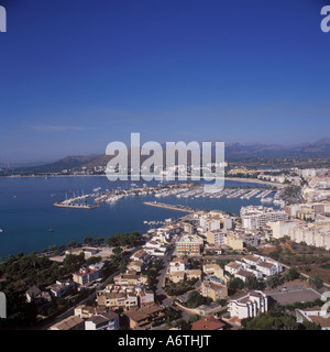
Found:
[[[105,153],[131,132],[161,143],[329,138],[327,1],[0,4],[0,162]]]

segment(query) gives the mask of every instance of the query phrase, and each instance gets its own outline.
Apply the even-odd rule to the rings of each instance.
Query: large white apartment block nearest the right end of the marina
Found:
[[[242,227],[248,230],[262,229],[267,222],[285,221],[288,219],[284,210],[275,210],[263,206],[242,207],[240,215]]]

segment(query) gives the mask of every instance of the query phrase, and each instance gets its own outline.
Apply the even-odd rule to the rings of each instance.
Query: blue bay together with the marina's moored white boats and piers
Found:
[[[240,189],[246,193],[237,198],[227,198],[227,195]],[[103,176],[1,178],[0,217],[3,232],[0,233],[0,256],[15,255],[21,251],[30,253],[53,244],[67,244],[68,241],[80,243],[86,237],[108,238],[119,231],[146,233],[151,224],[144,223],[145,220],[164,221],[185,216],[193,209],[239,213],[241,207],[261,205],[261,198],[248,200],[241,199],[242,196],[266,189],[270,190],[260,184],[239,182],[226,182],[223,189],[208,193],[202,185],[196,184],[135,182],[131,186],[129,182],[110,183]],[[158,194],[161,197],[155,197]],[[13,198],[13,195],[16,197]],[[277,198],[280,201],[280,194]],[[163,204],[170,206],[143,205],[162,202],[162,199]],[[50,229],[55,231],[48,232]]]

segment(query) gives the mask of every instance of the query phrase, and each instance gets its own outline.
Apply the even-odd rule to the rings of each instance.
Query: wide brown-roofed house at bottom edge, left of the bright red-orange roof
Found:
[[[133,308],[125,312],[130,321],[130,329],[145,327],[152,322],[163,320],[165,318],[164,309],[156,304],[142,308]]]

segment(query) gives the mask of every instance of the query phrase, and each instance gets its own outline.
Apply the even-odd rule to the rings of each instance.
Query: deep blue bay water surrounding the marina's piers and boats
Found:
[[[65,194],[91,193],[101,187],[114,189],[130,188],[129,182],[110,183],[103,176],[86,177],[12,177],[0,178],[0,256],[25,254],[41,251],[53,244],[82,242],[86,237],[105,238],[116,232],[139,231],[145,233],[150,227],[143,221],[179,218],[185,213],[143,205],[144,201],[179,204],[197,209],[219,209],[239,212],[242,206],[260,205],[260,199],[250,200],[210,198],[156,198],[154,195],[125,197],[114,204],[101,204],[91,210],[56,208],[56,200],[65,199]],[[143,182],[136,183],[142,186]],[[148,183],[154,186],[157,183]],[[227,186],[254,186],[237,182],[226,182]],[[262,187],[261,185],[255,185]],[[52,197],[51,195],[56,195]],[[69,194],[68,194],[69,195]],[[50,229],[54,232],[48,232]]]

